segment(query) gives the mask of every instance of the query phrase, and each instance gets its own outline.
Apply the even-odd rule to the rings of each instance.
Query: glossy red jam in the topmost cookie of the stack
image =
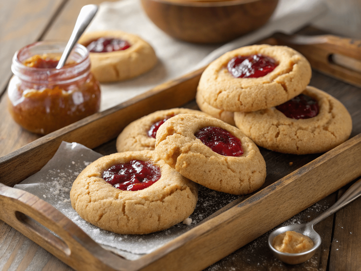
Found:
[[[261,54],[233,57],[227,65],[228,71],[235,78],[262,77],[272,72],[277,61]]]

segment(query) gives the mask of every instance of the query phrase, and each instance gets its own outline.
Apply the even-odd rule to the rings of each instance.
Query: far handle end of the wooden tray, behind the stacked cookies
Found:
[[[361,87],[361,40],[276,33],[262,42],[289,46],[302,53],[312,68]]]

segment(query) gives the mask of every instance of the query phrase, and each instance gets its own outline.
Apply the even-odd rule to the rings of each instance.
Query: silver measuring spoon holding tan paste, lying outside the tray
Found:
[[[312,221],[306,224],[295,224],[295,225],[284,226],[271,232],[271,234],[268,237],[268,246],[271,249],[273,255],[276,258],[278,258],[280,261],[288,264],[298,264],[310,259],[321,245],[321,236],[319,236],[319,234],[313,229],[313,226],[316,225],[319,221],[322,221],[323,219],[327,218],[327,216],[334,214],[342,207],[348,205],[348,203],[357,199],[358,197],[360,197],[360,195],[361,195],[361,179],[355,182],[355,184],[351,185],[351,187],[347,189],[347,191],[334,205],[332,205],[330,208],[328,208],[325,212],[317,216],[317,218],[313,219]],[[276,250],[272,246],[273,239],[280,233],[286,231],[295,231],[310,237],[314,244],[312,249],[302,253],[285,253]]]

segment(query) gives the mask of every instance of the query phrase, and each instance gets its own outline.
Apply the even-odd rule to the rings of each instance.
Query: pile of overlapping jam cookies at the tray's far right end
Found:
[[[352,121],[337,99],[308,86],[310,78],[310,64],[292,48],[246,46],[205,69],[196,101],[258,146],[289,154],[324,152],[347,140]]]

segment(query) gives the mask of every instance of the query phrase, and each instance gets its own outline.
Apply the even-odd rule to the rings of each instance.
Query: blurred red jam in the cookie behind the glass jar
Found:
[[[92,53],[105,53],[128,49],[130,47],[130,43],[126,40],[117,38],[99,38],[93,40],[86,47],[89,52]]]

